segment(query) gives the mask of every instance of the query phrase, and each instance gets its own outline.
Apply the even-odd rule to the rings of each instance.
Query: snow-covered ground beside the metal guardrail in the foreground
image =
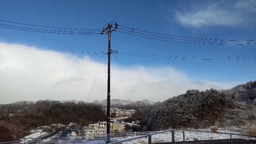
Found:
[[[209,129],[206,130],[201,130],[201,131],[208,131],[210,132]],[[225,129],[225,128],[220,128],[218,132],[225,132],[225,133],[236,133],[236,134],[242,134],[239,132],[239,129],[237,128],[232,128],[232,129]],[[131,134],[131,133],[130,133]],[[132,135],[128,135],[127,133],[123,133],[122,135],[118,135],[118,137],[112,137],[110,138],[111,141],[119,141],[119,140],[126,140],[130,138],[137,137],[138,134],[142,133],[132,133]],[[183,141],[183,132],[182,131],[174,131],[174,137],[175,141]],[[80,140],[78,140],[80,139]],[[82,138],[78,139],[76,137],[72,137],[70,139],[66,140],[56,140],[53,139],[53,136],[43,140],[44,142],[47,141],[52,141],[53,143],[86,143],[86,144],[105,144],[106,139],[101,138],[101,139],[91,139],[91,140],[84,140]],[[185,140],[186,141],[193,141],[193,140],[216,140],[216,139],[230,139],[229,134],[217,134],[217,133],[207,133],[207,132],[194,132],[194,131],[185,131]],[[245,140],[252,140],[256,139],[255,137],[246,137],[246,136],[238,136],[238,135],[232,135],[232,139],[245,139]],[[171,132],[165,132],[165,133],[160,133],[156,135],[152,135],[152,142],[171,142],[172,141],[172,133]],[[136,140],[130,140],[123,142],[123,144],[131,144],[131,143],[148,143],[148,138],[140,138]]]

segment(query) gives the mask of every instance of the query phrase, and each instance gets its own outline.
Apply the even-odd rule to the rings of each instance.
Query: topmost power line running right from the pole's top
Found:
[[[120,25],[118,25],[120,26]],[[128,28],[124,26],[120,26],[123,28]],[[150,31],[144,31],[144,30],[139,30],[139,29],[134,29],[134,28],[128,28],[131,30],[138,30],[142,32],[147,32],[147,33],[152,33],[152,34],[158,34],[158,35],[164,35],[164,36],[174,36],[174,35],[168,35],[168,34],[161,34],[161,33],[155,33],[155,32],[150,32]],[[202,39],[202,40],[215,40],[215,41],[256,41],[256,40],[225,40],[225,39],[210,39],[210,38],[197,38],[197,37],[188,37],[188,36],[174,36],[174,37],[183,37],[183,38],[193,38],[193,39]]]

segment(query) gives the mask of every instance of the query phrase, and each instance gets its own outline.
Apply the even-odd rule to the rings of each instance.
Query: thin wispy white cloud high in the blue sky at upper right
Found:
[[[201,4],[199,4],[201,5]],[[239,26],[256,21],[256,1],[218,1],[197,10],[176,11],[175,19],[183,26]]]

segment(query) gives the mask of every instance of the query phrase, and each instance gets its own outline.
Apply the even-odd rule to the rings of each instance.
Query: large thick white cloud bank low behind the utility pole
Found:
[[[100,56],[99,56],[100,59]],[[0,103],[20,100],[87,100],[99,61],[90,57],[0,45]],[[195,82],[172,67],[121,66],[130,100],[163,101],[188,89],[230,88]],[[89,101],[107,95],[107,64],[102,63]],[[128,100],[119,69],[111,66],[111,99]]]

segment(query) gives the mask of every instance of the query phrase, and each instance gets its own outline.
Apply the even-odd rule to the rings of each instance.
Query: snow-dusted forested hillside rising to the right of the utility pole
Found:
[[[188,90],[162,103],[137,110],[133,118],[143,131],[167,128],[209,128],[243,124],[256,119],[256,81],[230,90]]]

